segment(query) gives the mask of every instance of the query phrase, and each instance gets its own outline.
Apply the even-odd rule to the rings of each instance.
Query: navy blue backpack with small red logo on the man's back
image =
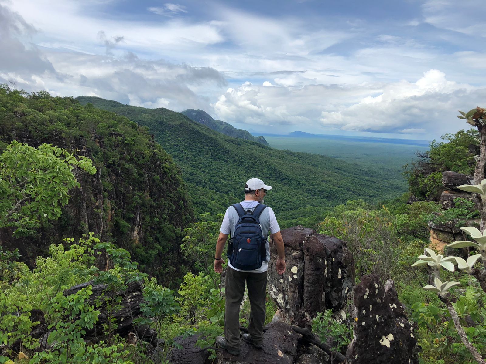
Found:
[[[267,206],[260,203],[253,212],[250,210],[245,212],[239,203],[232,206],[240,218],[228,245],[229,263],[236,269],[258,269],[261,267],[261,263],[267,259],[265,247],[267,237],[263,236],[259,220]]]

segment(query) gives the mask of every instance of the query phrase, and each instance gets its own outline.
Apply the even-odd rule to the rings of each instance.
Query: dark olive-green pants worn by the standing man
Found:
[[[232,349],[240,348],[240,306],[243,300],[245,281],[250,299],[248,333],[255,344],[263,343],[267,272],[239,272],[228,266],[225,283],[225,338],[228,347]]]

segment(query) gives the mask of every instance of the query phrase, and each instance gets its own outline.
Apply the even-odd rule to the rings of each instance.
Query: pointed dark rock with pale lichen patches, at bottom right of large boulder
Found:
[[[392,280],[383,286],[378,275],[364,276],[354,291],[354,317],[347,364],[418,364],[414,330]]]

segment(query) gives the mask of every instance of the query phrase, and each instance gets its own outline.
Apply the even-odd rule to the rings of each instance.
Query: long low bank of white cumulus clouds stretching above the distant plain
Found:
[[[212,104],[218,118],[244,124],[320,124],[325,130],[440,135],[465,127],[456,110],[481,104],[486,88],[456,83],[435,69],[416,82],[229,88]],[[428,135],[427,135],[428,134]]]

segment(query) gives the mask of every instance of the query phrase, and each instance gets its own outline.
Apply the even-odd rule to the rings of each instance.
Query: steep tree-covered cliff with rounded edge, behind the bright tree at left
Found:
[[[92,159],[97,173],[78,176],[81,187],[69,191],[72,197],[58,220],[43,221],[34,235],[17,238],[3,229],[0,245],[19,248],[33,265],[52,242],[94,232],[127,248],[143,269],[167,284],[180,277],[179,245],[192,208],[179,169],[145,128],[72,98],[43,91],[27,95],[2,86],[0,151],[13,140],[78,149]]]

